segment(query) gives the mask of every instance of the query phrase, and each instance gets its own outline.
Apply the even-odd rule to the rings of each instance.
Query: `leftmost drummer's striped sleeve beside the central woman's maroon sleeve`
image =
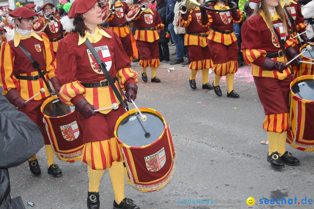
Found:
[[[44,54],[46,57],[46,72],[49,79],[57,76],[57,60],[53,54],[53,47],[45,33],[41,33],[44,43]]]

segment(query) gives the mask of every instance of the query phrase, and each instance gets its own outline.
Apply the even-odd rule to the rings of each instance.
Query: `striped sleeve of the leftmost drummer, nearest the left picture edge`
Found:
[[[7,42],[1,44],[0,56],[0,86],[3,87],[3,95],[6,95],[11,89],[19,89],[19,82],[13,76],[14,53]]]

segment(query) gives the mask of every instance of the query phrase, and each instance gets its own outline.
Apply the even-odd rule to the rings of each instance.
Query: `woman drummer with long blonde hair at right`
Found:
[[[268,133],[267,160],[273,168],[283,168],[284,163],[299,165],[299,159],[286,151],[289,86],[293,78],[285,64],[286,57],[280,43],[280,40],[283,40],[286,54],[292,59],[297,54],[291,46],[295,41],[288,34],[280,1],[250,1],[255,4],[255,10],[242,25],[241,49],[246,64],[252,64],[258,97],[266,115],[263,128]],[[297,64],[299,61],[294,62]]]

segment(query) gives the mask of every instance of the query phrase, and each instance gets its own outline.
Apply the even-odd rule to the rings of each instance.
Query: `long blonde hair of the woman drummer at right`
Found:
[[[287,14],[284,12],[284,9],[280,5],[280,1],[278,1],[278,6],[275,7],[275,9],[276,9],[276,12],[277,12],[279,18],[282,21],[283,28],[284,28],[284,34],[286,36],[288,36],[289,34],[288,34],[288,27],[287,27],[287,21],[286,21],[288,19],[288,17],[287,17]],[[274,28],[273,28],[273,23],[271,21],[271,14],[270,14],[270,12],[268,10],[268,7],[267,7],[267,4],[266,4],[265,0],[262,1],[262,5],[261,5],[260,8],[257,6],[257,9],[254,10],[254,12],[252,13],[252,16],[260,14],[262,10],[263,10],[263,12],[265,14],[265,22],[269,26],[270,32],[273,35],[276,35],[275,31],[274,31]],[[251,18],[252,16],[250,16],[249,18]],[[278,37],[278,39],[280,39],[280,37]]]

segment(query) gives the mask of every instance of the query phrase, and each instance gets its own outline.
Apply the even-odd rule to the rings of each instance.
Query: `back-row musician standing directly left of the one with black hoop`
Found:
[[[195,77],[199,70],[202,71],[202,89],[214,89],[208,83],[208,71],[213,66],[212,56],[207,45],[208,28],[198,24],[201,12],[198,7],[190,8],[185,14],[181,14],[181,27],[185,27],[184,45],[187,46],[191,63],[189,64],[190,87],[196,89]]]

